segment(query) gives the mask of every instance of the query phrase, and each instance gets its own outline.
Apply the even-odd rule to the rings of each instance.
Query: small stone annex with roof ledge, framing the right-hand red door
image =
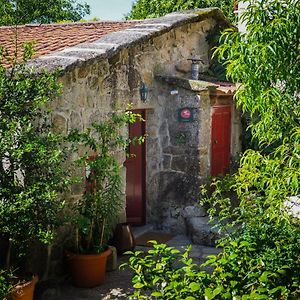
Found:
[[[157,92],[147,117],[147,220],[157,229],[187,233],[185,208],[198,206],[199,187],[210,176],[212,107],[232,107],[232,156],[240,151],[239,113],[232,93],[211,90],[208,82],[157,76]],[[193,122],[178,120],[178,109],[184,107],[192,109]],[[197,209],[197,217],[206,216]]]

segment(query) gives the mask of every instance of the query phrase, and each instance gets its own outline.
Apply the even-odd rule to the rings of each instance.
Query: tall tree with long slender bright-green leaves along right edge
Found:
[[[235,99],[257,142],[244,153],[232,188],[253,217],[263,209],[278,222],[287,197],[299,194],[299,15],[298,1],[251,1],[247,32],[226,30],[217,51],[242,83]]]

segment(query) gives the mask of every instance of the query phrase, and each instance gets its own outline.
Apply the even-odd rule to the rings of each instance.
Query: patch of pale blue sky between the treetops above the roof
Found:
[[[131,10],[134,0],[81,0],[91,7],[91,14],[85,19],[97,17],[101,20],[122,20]]]

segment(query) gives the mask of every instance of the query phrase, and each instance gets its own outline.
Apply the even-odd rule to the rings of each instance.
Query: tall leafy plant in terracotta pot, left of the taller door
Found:
[[[76,286],[97,286],[105,278],[108,242],[124,208],[121,169],[130,142],[124,129],[138,119],[128,110],[113,113],[85,132],[70,134],[72,142],[86,148],[77,161],[85,169],[85,188],[74,207],[75,251],[67,255]]]

